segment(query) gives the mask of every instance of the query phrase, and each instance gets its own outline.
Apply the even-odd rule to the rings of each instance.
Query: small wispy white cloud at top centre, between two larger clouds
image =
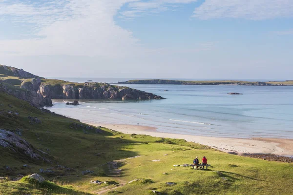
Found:
[[[196,2],[197,0],[147,0],[128,4],[125,11],[120,12],[121,18],[134,18],[146,14],[154,14],[177,7],[180,4]]]

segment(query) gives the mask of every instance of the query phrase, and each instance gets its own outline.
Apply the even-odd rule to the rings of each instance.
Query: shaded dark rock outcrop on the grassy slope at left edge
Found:
[[[0,129],[0,147],[8,148],[15,153],[21,153],[29,156],[35,160],[43,160],[50,162],[50,160],[42,157],[34,147],[25,139],[18,137],[15,133]]]

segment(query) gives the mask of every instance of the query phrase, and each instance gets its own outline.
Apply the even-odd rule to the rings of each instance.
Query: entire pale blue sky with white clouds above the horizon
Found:
[[[0,64],[43,77],[293,79],[293,0],[0,0]]]

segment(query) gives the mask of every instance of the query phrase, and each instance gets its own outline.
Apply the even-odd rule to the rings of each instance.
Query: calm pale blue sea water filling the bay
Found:
[[[81,100],[79,106],[53,100],[49,109],[87,121],[139,123],[177,134],[293,138],[293,86],[123,85],[167,99]]]

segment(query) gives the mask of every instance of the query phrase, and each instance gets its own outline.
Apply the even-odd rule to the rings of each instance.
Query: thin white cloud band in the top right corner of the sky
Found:
[[[292,0],[206,0],[197,7],[194,18],[266,20],[293,17]]]

